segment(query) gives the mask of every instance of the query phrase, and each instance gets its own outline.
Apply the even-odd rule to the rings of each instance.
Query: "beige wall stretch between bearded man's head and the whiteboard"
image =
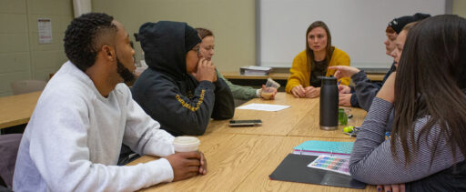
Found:
[[[216,36],[214,64],[220,71],[255,65],[254,0],[93,0],[94,12],[113,15],[135,40],[139,26],[160,20],[205,27]],[[137,59],[141,48],[135,44]]]

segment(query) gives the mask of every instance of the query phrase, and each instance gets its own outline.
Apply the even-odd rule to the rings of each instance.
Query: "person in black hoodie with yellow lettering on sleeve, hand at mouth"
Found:
[[[235,112],[227,84],[215,66],[199,59],[198,32],[180,22],[146,23],[138,38],[147,68],[131,89],[133,98],[174,136],[203,135],[210,118]]]

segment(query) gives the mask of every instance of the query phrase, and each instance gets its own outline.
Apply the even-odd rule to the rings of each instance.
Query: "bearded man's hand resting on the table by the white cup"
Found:
[[[201,171],[203,174],[207,172],[204,155],[198,151],[176,153],[165,158],[173,168],[173,181],[198,176]],[[201,161],[204,161],[203,165]]]

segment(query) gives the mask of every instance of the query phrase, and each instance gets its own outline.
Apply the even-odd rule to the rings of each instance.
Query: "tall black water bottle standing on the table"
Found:
[[[339,127],[339,87],[337,78],[321,76],[320,129],[336,130]]]

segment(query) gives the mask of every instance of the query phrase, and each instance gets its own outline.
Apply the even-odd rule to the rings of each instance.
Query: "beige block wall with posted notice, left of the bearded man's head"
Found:
[[[0,0],[0,96],[10,82],[47,80],[66,61],[63,32],[73,18],[71,1]],[[38,44],[37,18],[52,20],[52,44]]]

